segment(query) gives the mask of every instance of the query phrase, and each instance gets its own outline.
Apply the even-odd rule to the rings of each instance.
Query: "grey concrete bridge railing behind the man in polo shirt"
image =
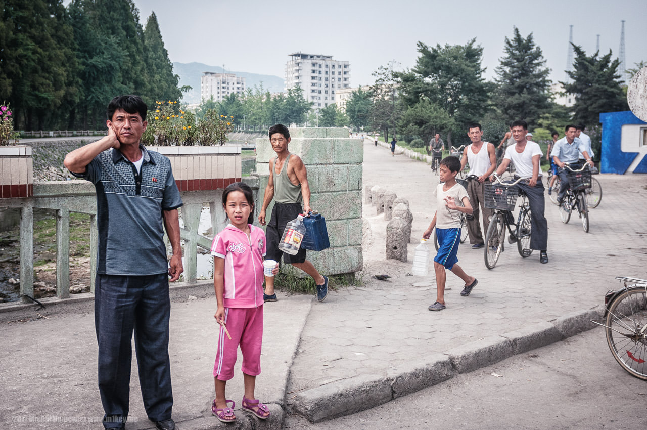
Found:
[[[243,181],[252,187],[254,198],[258,199],[258,177],[245,177]],[[212,245],[212,238],[198,234],[203,206],[209,205],[212,231],[214,232],[219,232],[226,226],[226,214],[221,203],[222,189],[183,191],[180,194],[184,202],[181,208],[184,227],[180,232],[184,241],[183,283],[191,285],[197,283],[197,247],[211,249]],[[23,302],[30,302],[25,295],[34,297],[34,209],[56,211],[56,297],[58,299],[70,297],[70,212],[89,214],[91,220],[89,238],[91,249],[90,291],[94,293],[98,233],[96,228],[96,194],[92,183],[87,181],[35,182],[34,196],[0,199],[0,208],[20,210],[20,297]],[[165,240],[168,243],[166,237]],[[12,304],[15,302],[0,304],[0,310]]]

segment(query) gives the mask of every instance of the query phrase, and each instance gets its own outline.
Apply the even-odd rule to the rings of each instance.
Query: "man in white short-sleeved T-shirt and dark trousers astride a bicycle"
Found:
[[[539,261],[542,264],[548,262],[546,252],[548,243],[548,221],[543,215],[545,198],[543,196],[542,170],[539,167],[542,158],[542,150],[539,145],[525,138],[528,133],[528,124],[523,120],[516,120],[510,124],[510,133],[515,144],[505,150],[503,161],[496,170],[496,174],[502,175],[508,168],[510,162],[514,164],[516,172],[515,179],[527,179],[527,183],[520,182],[517,186],[523,191],[531,210],[531,236],[530,248],[540,251]]]

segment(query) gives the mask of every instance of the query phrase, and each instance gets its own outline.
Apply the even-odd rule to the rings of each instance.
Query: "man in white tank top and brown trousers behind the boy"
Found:
[[[476,122],[470,124],[467,135],[470,137],[471,144],[463,150],[461,159],[461,172],[465,164],[470,165],[470,176],[476,175],[478,179],[467,179],[467,195],[472,203],[472,215],[474,218],[467,220],[467,232],[470,236],[472,248],[482,248],[485,240],[483,236],[490,225],[490,216],[494,210],[488,209],[483,203],[483,183],[496,169],[496,151],[494,145],[490,142],[483,142],[483,130],[481,124]],[[479,211],[479,206],[481,207]],[[481,223],[479,222],[479,212],[483,213],[483,231],[481,232]]]

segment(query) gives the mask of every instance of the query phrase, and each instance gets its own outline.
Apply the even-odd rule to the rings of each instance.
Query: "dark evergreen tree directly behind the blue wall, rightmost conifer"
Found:
[[[628,110],[618,73],[620,60],[611,61],[611,50],[598,57],[599,52],[587,56],[582,47],[573,45],[573,49],[573,71],[567,71],[571,82],[562,85],[566,93],[575,95],[575,120],[591,127],[600,122],[602,112]]]

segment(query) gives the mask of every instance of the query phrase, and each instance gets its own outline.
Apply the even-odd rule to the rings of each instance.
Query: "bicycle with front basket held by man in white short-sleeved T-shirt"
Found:
[[[519,182],[527,183],[528,179],[519,178],[514,182],[503,182],[496,173],[494,177],[498,184],[486,183],[483,189],[484,206],[494,209],[492,220],[490,220],[485,234],[484,259],[485,267],[488,269],[494,269],[499,256],[505,251],[503,242],[505,242],[506,229],[510,232],[508,242],[517,243],[517,251],[522,258],[527,258],[532,254],[532,249],[530,249],[532,230],[530,205],[525,192],[519,187],[515,187]],[[512,210],[514,210],[518,196],[521,196],[521,204],[517,222],[514,223]],[[511,226],[514,226],[514,231]]]

